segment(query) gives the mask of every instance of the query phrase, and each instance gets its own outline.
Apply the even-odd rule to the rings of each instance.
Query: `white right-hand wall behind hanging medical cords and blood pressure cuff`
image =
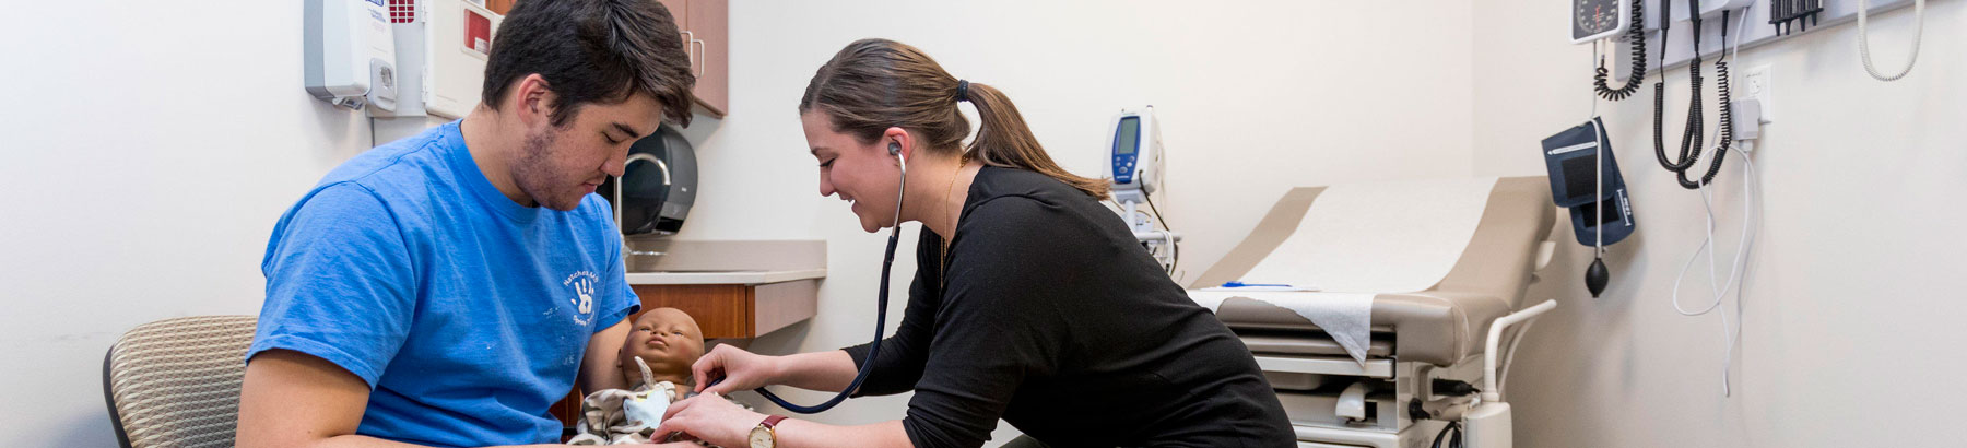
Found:
[[[1477,175],[1542,175],[1538,140],[1589,116],[1591,49],[1558,37],[1564,20],[1560,2],[1475,2]],[[1605,297],[1583,293],[1591,259],[1576,244],[1530,289],[1560,305],[1509,379],[1519,446],[1957,446],[1945,397],[1967,369],[1967,303],[1953,281],[1967,252],[1955,224],[1967,220],[1963,24],[1967,2],[1928,4],[1918,67],[1898,83],[1865,75],[1849,24],[1741,53],[1737,71],[1770,65],[1778,122],[1755,153],[1766,218],[1735,397],[1721,397],[1717,316],[1684,318],[1668,303],[1703,214],[1652,155],[1658,75],[1633,100],[1601,102],[1639,234],[1611,246]],[[1878,16],[1871,31],[1877,61],[1898,67],[1912,8]],[[1686,116],[1686,73],[1666,83],[1668,132]],[[1741,230],[1739,159],[1717,185],[1725,263]],[[1705,285],[1696,271],[1690,283]]]

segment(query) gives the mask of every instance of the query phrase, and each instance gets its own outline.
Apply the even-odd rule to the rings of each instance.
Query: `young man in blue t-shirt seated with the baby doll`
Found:
[[[279,218],[238,446],[551,444],[570,387],[624,387],[637,299],[592,195],[688,55],[653,0],[519,2],[464,120],[342,163]]]

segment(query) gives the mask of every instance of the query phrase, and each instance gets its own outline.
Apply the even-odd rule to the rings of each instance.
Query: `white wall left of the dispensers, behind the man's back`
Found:
[[[368,145],[301,90],[299,2],[18,2],[0,14],[0,446],[114,446],[102,354],[254,314],[279,214]]]

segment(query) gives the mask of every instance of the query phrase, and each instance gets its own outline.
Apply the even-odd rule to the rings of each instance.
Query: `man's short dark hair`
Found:
[[[523,0],[492,41],[484,102],[500,108],[506,92],[539,73],[559,96],[553,126],[572,122],[580,106],[618,104],[645,92],[663,116],[690,124],[690,57],[669,8],[657,0]]]

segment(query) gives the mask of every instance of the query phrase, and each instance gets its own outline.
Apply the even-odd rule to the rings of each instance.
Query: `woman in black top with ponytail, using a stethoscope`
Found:
[[[972,102],[984,124],[964,147]],[[728,401],[683,401],[659,432],[722,446],[982,446],[997,419],[1050,446],[1294,446],[1249,350],[1135,242],[1100,200],[1107,181],[1060,169],[997,88],[950,77],[887,39],[850,43],[799,104],[820,195],[854,202],[862,228],[923,224],[901,328],[856,395],[915,391],[901,420],[828,426]],[[698,389],[840,391],[867,346],[757,356],[718,346]],[[724,377],[704,387],[706,377]],[[775,440],[771,440],[775,438]]]

